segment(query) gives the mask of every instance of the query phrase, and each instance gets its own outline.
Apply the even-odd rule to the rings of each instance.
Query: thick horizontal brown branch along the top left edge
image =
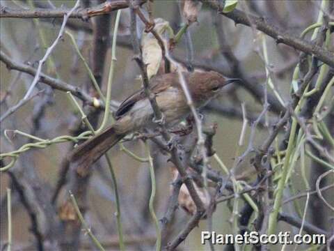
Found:
[[[142,5],[146,0],[140,0],[139,4]],[[90,8],[75,10],[71,18],[81,18],[83,20],[89,17],[95,17],[97,15],[106,15],[114,10],[119,10],[122,8],[128,8],[129,1],[127,0],[113,0],[106,1],[97,6]],[[16,17],[16,18],[54,18],[63,17],[66,13],[70,11],[70,8],[36,8],[35,10],[16,10],[4,6],[0,6],[0,18],[1,17]]]

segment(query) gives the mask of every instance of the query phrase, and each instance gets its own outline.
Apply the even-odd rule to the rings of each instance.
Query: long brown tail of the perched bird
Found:
[[[114,126],[110,126],[104,132],[77,146],[70,153],[69,160],[82,171],[88,170],[90,165],[93,165],[94,162],[111,149],[111,147],[116,145],[124,136],[117,133]]]

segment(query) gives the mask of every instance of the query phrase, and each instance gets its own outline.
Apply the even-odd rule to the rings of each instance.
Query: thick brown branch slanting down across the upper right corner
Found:
[[[203,0],[201,0],[203,1]],[[276,43],[283,43],[294,47],[294,49],[306,54],[312,54],[317,57],[320,61],[327,63],[328,66],[334,67],[334,56],[333,53],[328,50],[324,50],[318,45],[312,44],[301,38],[297,38],[287,31],[282,31],[278,27],[269,24],[264,18],[256,17],[255,15],[250,15],[249,13],[244,13],[241,10],[234,9],[232,12],[223,13],[222,6],[218,1],[203,1],[208,3],[211,8],[218,10],[219,14],[225,15],[225,17],[230,18],[236,24],[244,24],[246,26],[252,26],[255,29],[266,33],[268,36],[276,40]]]

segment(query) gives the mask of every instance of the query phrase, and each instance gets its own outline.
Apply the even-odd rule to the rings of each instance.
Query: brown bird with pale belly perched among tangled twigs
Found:
[[[214,71],[183,74],[196,108],[206,105],[209,100],[215,98],[223,86],[239,80],[226,79]],[[156,96],[167,128],[190,113],[177,73],[152,77],[150,91]],[[125,99],[118,107],[115,117],[116,122],[113,125],[72,151],[70,160],[75,165],[87,168],[127,134],[141,128],[157,126],[157,123],[153,122],[153,110],[143,89]]]

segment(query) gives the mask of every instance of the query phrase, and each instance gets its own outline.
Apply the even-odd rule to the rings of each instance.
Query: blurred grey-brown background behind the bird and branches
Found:
[[[80,6],[88,8],[103,2],[80,1]],[[1,8],[2,6],[22,10],[65,6],[72,8],[74,3],[75,1],[58,0],[1,1]],[[331,5],[332,9],[329,10],[333,10],[333,3]],[[298,37],[305,28],[317,22],[321,11],[321,1],[239,1],[237,9],[264,17],[279,29]],[[145,5],[142,6],[142,10],[146,15]],[[333,22],[333,13],[326,14]],[[182,24],[186,22],[182,16],[182,6],[180,7],[178,1],[153,1],[152,16],[168,21],[174,33],[177,33]],[[110,15],[92,17],[88,20],[70,18],[65,28],[65,31],[69,31],[74,36],[81,54],[92,69],[103,93],[106,93],[111,62],[111,38],[115,17],[116,11]],[[61,22],[61,18],[1,18],[1,52],[17,63],[37,68],[38,61],[45,55],[47,47],[58,36]],[[137,19],[137,23],[137,32],[141,39],[145,26],[140,19]],[[129,25],[129,8],[125,8],[121,12],[118,29],[117,61],[111,89],[113,107],[141,88],[141,79],[138,78],[140,70],[132,59],[134,53]],[[168,38],[166,33],[163,36]],[[305,39],[310,40],[311,36],[312,32],[309,32]],[[329,45],[329,50],[333,52],[333,33],[330,36],[332,43]],[[263,43],[267,46],[267,63],[264,61]],[[191,52],[189,52],[189,46]],[[217,100],[200,111],[205,116],[205,125],[217,124],[216,135],[213,139],[214,149],[226,167],[230,169],[234,166],[237,151],[239,151],[237,155],[246,151],[252,121],[255,121],[262,112],[264,104],[262,90],[268,81],[266,67],[279,96],[284,102],[289,102],[294,69],[300,60],[301,52],[284,44],[276,45],[273,38],[251,27],[234,24],[228,17],[220,15],[216,10],[204,4],[198,12],[197,22],[189,26],[170,54],[189,69],[216,70],[225,76],[239,77],[247,82],[226,87]],[[63,34],[48,57],[42,67],[42,73],[55,79],[61,79],[72,86],[78,86],[90,96],[97,96],[84,63],[67,33]],[[2,60],[0,75],[1,116],[3,116],[10,107],[22,100],[33,81],[33,76],[8,69]],[[14,151],[31,142],[31,139],[15,132],[12,133],[12,131],[10,131],[10,141],[8,141],[4,135],[5,130],[19,130],[42,139],[54,139],[61,135],[77,136],[84,131],[81,115],[72,105],[65,91],[52,89],[49,85],[39,82],[33,93],[38,94],[33,94],[29,102],[1,121],[1,153]],[[272,101],[272,104],[265,119],[261,119],[255,130],[253,141],[255,149],[268,137],[271,125],[276,123],[284,112],[284,107],[276,94],[270,88],[268,88],[268,93],[269,101]],[[333,96],[333,89],[330,96]],[[89,114],[90,122],[97,128],[102,121],[102,110],[77,100],[81,106],[84,106],[85,112]],[[244,104],[250,123],[246,127],[245,144],[239,149],[237,143],[243,124],[241,104]],[[333,135],[333,111],[328,115],[326,123]],[[277,142],[280,142],[283,137],[285,137],[284,130]],[[148,158],[142,140],[125,142],[124,146],[141,158]],[[326,142],[323,146],[326,147]],[[305,147],[310,149],[310,146]],[[85,231],[81,231],[81,227],[79,231],[78,229],[75,231],[75,225],[67,222],[72,213],[66,211],[66,203],[69,201],[68,190],[74,191],[88,226],[91,227],[104,248],[118,250],[116,198],[106,161],[101,159],[84,178],[76,176],[69,168],[65,158],[72,148],[72,142],[64,142],[51,144],[45,149],[30,149],[19,154],[10,172],[1,172],[1,248],[6,245],[8,238],[6,188],[11,188],[13,250],[37,250],[36,247],[40,247],[36,244],[38,234],[43,239],[42,247],[45,250],[53,250],[54,242],[58,240],[58,228],[62,227],[65,229],[62,231],[68,233],[67,237],[72,238],[71,234],[79,236],[80,250],[95,250]],[[333,147],[331,149],[331,146],[328,146],[328,149],[333,153]],[[156,236],[148,209],[151,193],[148,162],[140,162],[132,158],[122,151],[120,146],[111,149],[110,153],[118,182],[122,227],[127,250],[152,250]],[[317,154],[316,151],[314,153]],[[161,149],[152,142],[150,142],[150,155],[154,161],[157,182],[154,209],[157,218],[161,219],[164,217],[170,197],[173,164],[168,162],[168,155],[162,153]],[[249,184],[256,179],[255,169],[250,162],[254,155],[253,152],[246,155],[245,160],[234,170],[236,177],[241,177]],[[1,161],[1,166],[4,166],[8,165],[10,159],[5,158]],[[305,187],[303,174],[301,174],[301,162],[297,159],[283,199],[308,189],[315,190],[315,181],[320,174],[328,170],[328,167],[312,161],[308,156],[303,163],[309,187]],[[210,166],[221,172],[214,158],[210,158]],[[326,182],[321,183],[321,186],[330,184],[333,184],[333,175],[326,177]],[[333,188],[324,191],[323,195],[328,203],[333,205]],[[303,212],[305,197],[296,203]],[[241,201],[240,208],[243,204],[244,201]],[[231,206],[232,201],[224,201],[216,205],[212,215],[212,229],[219,234],[232,233]],[[283,211],[290,215],[298,215],[294,203],[285,204]],[[182,207],[177,208],[175,217],[168,227],[166,240],[172,241],[184,229],[190,218],[191,215],[186,213]],[[310,197],[305,219],[312,225],[333,233],[333,211],[317,196]],[[209,245],[200,245],[200,231],[207,227],[207,220],[201,220],[198,227],[191,231],[191,234],[177,249],[209,250]],[[280,221],[278,231],[292,231],[297,234],[299,228]],[[280,250],[280,248],[282,247],[272,247],[272,250]],[[285,250],[293,250],[294,247],[289,248],[291,247]],[[297,250],[306,248],[310,246],[299,246]],[[217,250],[223,250],[223,247],[217,247]]]

